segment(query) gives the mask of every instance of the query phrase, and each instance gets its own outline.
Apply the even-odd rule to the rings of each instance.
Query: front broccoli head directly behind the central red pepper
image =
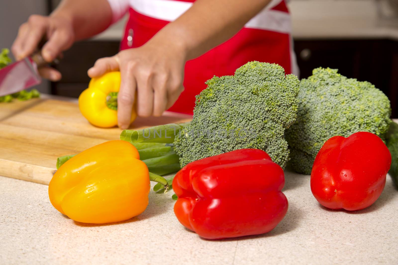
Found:
[[[213,77],[196,96],[193,120],[174,141],[181,166],[236,149],[256,148],[281,167],[289,160],[285,129],[297,115],[298,78],[277,64],[248,62]]]

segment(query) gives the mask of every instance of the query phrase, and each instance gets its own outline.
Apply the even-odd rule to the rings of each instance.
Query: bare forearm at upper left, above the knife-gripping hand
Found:
[[[107,0],[63,0],[50,16],[68,19],[77,41],[92,37],[109,27],[112,10]]]

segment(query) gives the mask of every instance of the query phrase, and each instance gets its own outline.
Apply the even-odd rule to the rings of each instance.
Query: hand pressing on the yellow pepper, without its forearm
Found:
[[[183,91],[185,49],[172,41],[151,39],[139,48],[123,50],[112,57],[97,60],[88,70],[90,77],[120,71],[117,120],[120,128],[130,125],[135,103],[141,117],[161,116]]]

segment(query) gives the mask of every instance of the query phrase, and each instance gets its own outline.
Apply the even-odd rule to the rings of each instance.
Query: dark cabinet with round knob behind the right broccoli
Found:
[[[392,40],[296,40],[300,78],[317,67],[369,81],[390,99],[392,117],[398,118],[398,41]]]

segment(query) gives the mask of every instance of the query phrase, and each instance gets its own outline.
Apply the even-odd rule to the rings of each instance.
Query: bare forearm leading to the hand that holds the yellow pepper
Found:
[[[196,58],[235,35],[271,0],[197,0],[176,21],[169,23],[155,39],[181,44],[187,60]]]

